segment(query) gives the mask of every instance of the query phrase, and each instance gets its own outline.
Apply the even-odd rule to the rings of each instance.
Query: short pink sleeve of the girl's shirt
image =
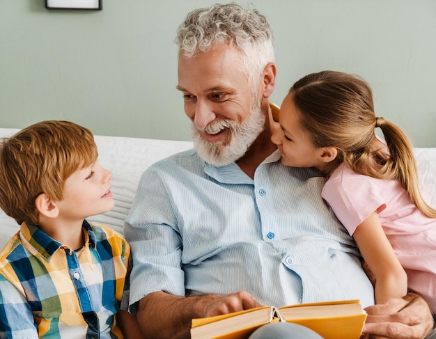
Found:
[[[322,188],[322,198],[350,235],[362,221],[386,205],[373,178],[357,173],[336,173]]]

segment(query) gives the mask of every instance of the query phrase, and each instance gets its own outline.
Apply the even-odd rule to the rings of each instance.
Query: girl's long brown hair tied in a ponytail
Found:
[[[372,91],[366,81],[348,73],[323,71],[299,79],[290,93],[313,145],[334,146],[338,150],[328,173],[345,163],[359,174],[398,180],[419,210],[436,217],[436,210],[421,196],[407,135],[394,123],[376,117]],[[375,127],[382,130],[386,145],[375,135]]]

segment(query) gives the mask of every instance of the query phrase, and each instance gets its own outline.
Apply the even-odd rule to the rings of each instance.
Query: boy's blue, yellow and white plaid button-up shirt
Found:
[[[0,338],[123,338],[115,320],[127,308],[130,246],[83,223],[73,251],[22,224],[0,252]],[[123,305],[121,301],[123,300]]]

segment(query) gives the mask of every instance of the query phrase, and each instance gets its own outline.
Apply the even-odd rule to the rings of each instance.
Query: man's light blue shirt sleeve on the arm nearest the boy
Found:
[[[155,171],[145,171],[125,221],[124,235],[133,255],[130,275],[132,313],[136,309],[133,304],[152,292],[185,295],[185,275],[181,269],[182,239],[166,191]]]

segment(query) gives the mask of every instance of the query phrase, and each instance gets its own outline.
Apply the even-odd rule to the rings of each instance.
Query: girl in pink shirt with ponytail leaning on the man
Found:
[[[407,136],[375,116],[368,84],[342,72],[306,75],[290,88],[279,120],[272,141],[282,163],[326,175],[322,197],[373,272],[376,303],[403,297],[408,285],[435,314],[436,210],[421,197]]]

